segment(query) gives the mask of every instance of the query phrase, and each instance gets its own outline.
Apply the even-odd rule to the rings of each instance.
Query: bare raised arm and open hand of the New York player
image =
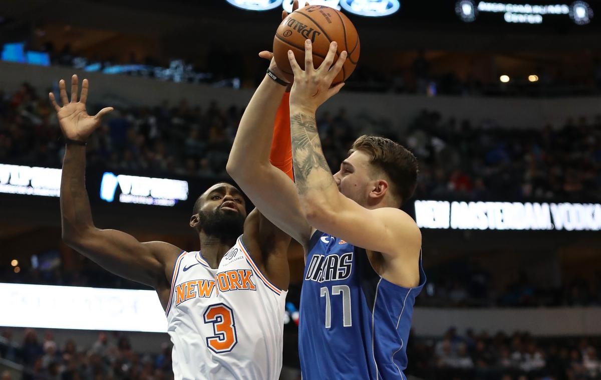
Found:
[[[78,102],[78,78],[73,75],[71,101],[67,98],[65,81],[59,82],[62,107],[50,93],[61,130],[67,141],[61,177],[61,218],[63,240],[79,253],[108,271],[155,288],[170,286],[166,279],[165,263],[180,252],[165,242],[141,243],[135,237],[116,230],[101,230],[94,226],[90,200],[85,189],[85,143],[99,126],[103,115],[112,111],[104,108],[96,116],[85,109],[88,81],[82,83]]]

